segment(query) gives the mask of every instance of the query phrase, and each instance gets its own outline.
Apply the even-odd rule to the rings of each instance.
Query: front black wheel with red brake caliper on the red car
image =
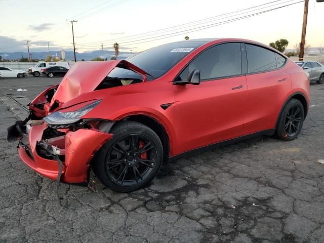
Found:
[[[163,160],[163,146],[156,133],[136,121],[122,121],[110,133],[112,139],[101,147],[92,164],[97,177],[118,192],[147,185]]]

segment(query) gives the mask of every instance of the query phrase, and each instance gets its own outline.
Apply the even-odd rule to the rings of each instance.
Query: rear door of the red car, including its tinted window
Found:
[[[252,134],[275,128],[287,93],[292,89],[290,75],[282,71],[287,60],[269,49],[246,44],[248,96],[244,130]]]

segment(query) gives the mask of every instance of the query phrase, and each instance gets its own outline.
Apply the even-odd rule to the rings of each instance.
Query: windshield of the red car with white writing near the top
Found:
[[[128,61],[157,78],[168,72],[190,52],[206,43],[207,41],[169,43],[138,53]]]

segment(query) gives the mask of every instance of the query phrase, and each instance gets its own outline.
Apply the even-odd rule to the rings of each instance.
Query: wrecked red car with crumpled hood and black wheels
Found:
[[[24,163],[57,182],[115,191],[149,183],[163,161],[259,135],[301,131],[309,75],[282,53],[237,38],[158,46],[128,60],[77,62],[8,129]]]

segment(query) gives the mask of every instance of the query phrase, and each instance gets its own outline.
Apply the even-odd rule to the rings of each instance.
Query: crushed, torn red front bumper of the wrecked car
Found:
[[[37,173],[52,180],[60,178],[59,181],[65,183],[87,182],[88,169],[94,153],[111,139],[112,134],[96,129],[65,129],[60,136],[45,139],[48,125],[39,121],[36,124],[19,125],[21,131],[17,149],[22,161]],[[12,131],[8,129],[8,133],[10,132]],[[59,174],[60,163],[62,170]]]

